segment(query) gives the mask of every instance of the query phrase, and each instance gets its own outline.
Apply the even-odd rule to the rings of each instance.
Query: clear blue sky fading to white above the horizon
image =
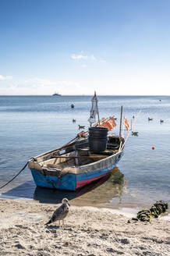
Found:
[[[0,94],[170,95],[170,1],[0,0]]]

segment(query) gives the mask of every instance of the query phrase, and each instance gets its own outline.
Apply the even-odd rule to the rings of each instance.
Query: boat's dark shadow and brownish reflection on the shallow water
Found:
[[[94,205],[109,203],[114,197],[121,200],[124,187],[123,174],[116,167],[108,176],[90,183],[76,191],[50,190],[37,187],[34,199],[41,203],[58,204],[63,197],[72,200],[75,205]]]

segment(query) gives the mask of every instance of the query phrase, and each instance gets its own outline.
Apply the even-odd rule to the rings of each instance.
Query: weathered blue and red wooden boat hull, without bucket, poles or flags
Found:
[[[105,151],[90,151],[87,138],[72,141],[66,148],[48,151],[31,158],[29,168],[39,187],[77,190],[101,179],[115,167],[123,154],[124,139],[108,136]]]

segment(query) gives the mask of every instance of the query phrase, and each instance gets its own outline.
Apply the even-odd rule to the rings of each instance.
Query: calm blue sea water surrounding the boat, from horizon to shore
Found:
[[[91,96],[1,96],[0,186],[29,158],[76,137],[78,124],[88,128],[90,99]],[[75,108],[70,108],[72,103]],[[112,208],[143,207],[157,200],[170,203],[170,97],[98,97],[100,117],[118,118],[113,133],[119,133],[121,105],[129,123],[141,110],[132,129],[138,131],[139,136],[129,136],[115,175],[78,192],[63,192],[36,188],[30,170],[25,169],[1,190],[2,197],[58,202],[66,196],[75,204]],[[148,122],[148,117],[153,120]],[[76,119],[76,123],[72,119]],[[164,123],[160,123],[160,119]]]

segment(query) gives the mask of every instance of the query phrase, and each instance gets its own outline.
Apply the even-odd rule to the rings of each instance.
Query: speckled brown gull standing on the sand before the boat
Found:
[[[52,222],[56,222],[57,220],[59,221],[59,225],[60,225],[60,220],[62,220],[62,224],[64,224],[64,219],[66,218],[66,215],[68,215],[69,213],[69,207],[70,207],[69,200],[67,198],[63,198],[62,205],[60,205],[60,207],[58,207],[55,210],[51,219],[45,225],[48,225]]]

